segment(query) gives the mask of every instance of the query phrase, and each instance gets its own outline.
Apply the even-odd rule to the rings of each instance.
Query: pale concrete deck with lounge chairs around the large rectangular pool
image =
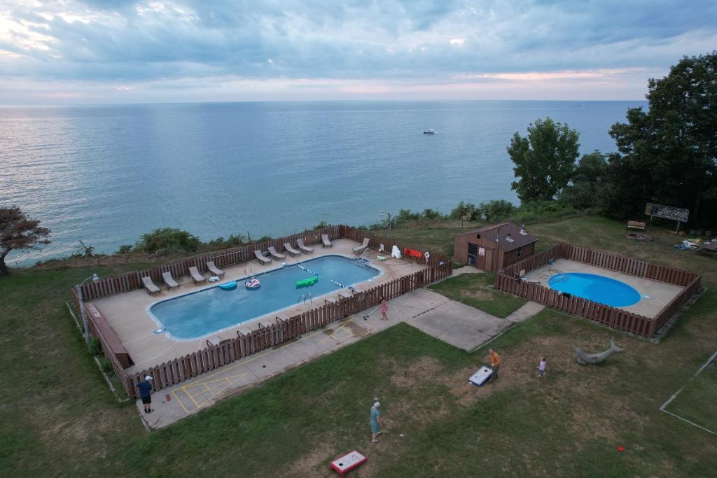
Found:
[[[323,255],[328,254],[339,254],[345,257],[356,258],[359,254],[355,254],[351,249],[359,245],[348,239],[336,239],[332,241],[333,247],[323,248],[320,244],[314,246],[314,252],[311,254],[301,254],[298,257],[291,257],[290,254],[285,254],[286,258],[282,259],[281,262],[272,262],[267,266],[259,264],[255,259],[250,262],[244,262],[242,264],[225,267],[224,268],[224,279],[222,282],[227,280],[237,279],[239,277],[245,277],[250,274],[257,274],[259,272],[267,272],[272,269],[280,269],[281,263],[295,264],[308,259],[315,259]],[[389,282],[397,277],[402,277],[407,274],[412,274],[425,267],[410,262],[404,259],[393,259],[390,257],[390,253],[381,253],[384,257],[389,257],[384,261],[379,261],[376,256],[379,252],[375,249],[369,249],[364,257],[371,259],[372,264],[381,269],[382,274],[374,278],[371,282],[360,282],[353,287],[356,290],[364,290],[370,287],[374,287],[383,282]],[[205,276],[209,274],[206,273]],[[212,333],[204,338],[194,340],[174,340],[165,333],[154,334],[153,331],[158,328],[158,325],[152,318],[147,314],[146,309],[149,305],[159,300],[165,300],[170,297],[176,297],[178,295],[184,295],[187,292],[193,292],[196,290],[203,289],[209,285],[200,283],[194,285],[191,277],[175,277],[176,281],[179,282],[180,287],[178,290],[167,290],[163,285],[161,286],[161,293],[148,295],[145,290],[133,290],[131,292],[125,292],[123,294],[112,295],[103,299],[93,300],[92,304],[105,315],[110,326],[115,330],[118,337],[122,341],[123,345],[127,349],[130,357],[132,358],[134,365],[127,369],[128,373],[136,371],[142,371],[145,368],[158,365],[168,360],[187,355],[189,353],[196,352],[201,348],[206,347],[207,338],[232,338],[237,336],[237,331],[241,333],[249,333],[251,330],[258,328],[258,325],[271,325],[275,322],[277,315],[282,318],[288,318],[293,315],[300,314],[305,310],[310,310],[313,307],[322,305],[324,300],[335,301],[338,299],[338,295],[350,295],[351,292],[346,288],[329,292],[326,295],[314,298],[313,303],[306,302],[305,305],[295,305],[288,309],[281,310],[280,312],[274,312],[262,317],[258,317],[255,320],[243,322],[242,324],[235,325],[234,327],[227,328],[220,333]],[[297,292],[297,297],[301,295]]]

